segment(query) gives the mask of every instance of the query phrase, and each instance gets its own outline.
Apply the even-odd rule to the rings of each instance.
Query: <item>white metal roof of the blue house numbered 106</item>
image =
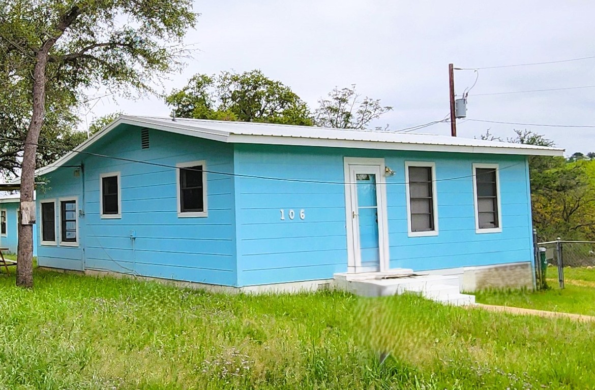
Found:
[[[295,146],[350,147],[356,149],[414,150],[418,152],[486,153],[500,155],[563,156],[564,149],[484,141],[434,134],[392,131],[342,130],[336,128],[264,124],[254,122],[208,121],[205,119],[137,117],[121,115],[103,130],[37,174],[54,171],[77,152],[101,139],[121,124],[129,124],[227,143],[278,144]]]

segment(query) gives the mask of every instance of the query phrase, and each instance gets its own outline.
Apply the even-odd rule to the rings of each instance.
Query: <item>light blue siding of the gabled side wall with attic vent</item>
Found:
[[[149,149],[140,129],[93,145],[84,159],[85,269],[134,273],[209,284],[236,284],[233,177],[207,173],[208,216],[177,215],[177,163],[206,161],[206,169],[233,172],[233,146],[150,131]],[[154,165],[151,165],[154,164]],[[121,218],[101,218],[99,175],[120,172]],[[136,238],[130,238],[136,232]]]

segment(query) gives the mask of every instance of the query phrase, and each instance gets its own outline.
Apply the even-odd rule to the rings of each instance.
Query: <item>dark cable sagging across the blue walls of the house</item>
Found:
[[[11,138],[7,138],[7,137],[0,137],[0,140],[23,143],[20,140],[11,139]],[[141,163],[141,164],[145,164],[145,165],[159,166],[161,168],[180,169],[179,166],[162,164],[162,163],[158,163],[158,162],[141,161],[141,160],[134,160],[134,159],[124,158],[124,157],[102,155],[102,154],[99,154],[99,153],[83,152],[82,150],[67,149],[65,147],[51,146],[51,145],[43,144],[43,143],[29,143],[29,144],[35,144],[37,146],[43,146],[43,147],[53,147],[55,149],[61,149],[61,150],[64,150],[66,152],[80,153],[82,155],[89,155],[89,156],[94,156],[94,157],[108,158],[108,159],[114,159],[114,160],[118,160],[118,161],[125,161],[125,162],[131,162],[131,163]],[[514,166],[517,166],[517,165],[519,165],[521,163],[524,164],[525,162],[524,161],[519,161],[519,162],[514,163],[512,165],[504,166],[502,168],[497,168],[497,169],[494,169],[494,172],[495,171],[502,171],[503,169],[513,168]],[[60,168],[60,165],[46,165],[43,168]],[[184,169],[186,169],[188,171],[206,172],[206,173],[209,173],[209,174],[217,174],[217,175],[224,175],[224,176],[230,176],[230,177],[253,178],[253,179],[274,180],[274,181],[287,181],[287,182],[290,182],[290,183],[340,184],[340,185],[357,184],[357,183],[345,183],[343,181],[321,181],[321,180],[306,180],[306,179],[290,179],[290,178],[268,177],[268,176],[259,176],[259,175],[235,174],[235,173],[230,173],[230,172],[208,171],[206,169],[193,169],[193,168],[184,168]],[[446,179],[436,179],[436,180],[432,180],[432,181],[433,182],[439,182],[439,181],[459,180],[459,179],[464,179],[464,178],[469,178],[469,177],[474,177],[474,176],[475,175],[465,175],[465,176],[451,177],[451,178],[446,178]],[[408,182],[405,182],[405,181],[403,181],[403,182],[391,182],[391,183],[386,183],[385,182],[385,183],[377,183],[377,184],[385,184],[385,185],[399,184],[399,185],[404,185],[404,184],[408,184]]]

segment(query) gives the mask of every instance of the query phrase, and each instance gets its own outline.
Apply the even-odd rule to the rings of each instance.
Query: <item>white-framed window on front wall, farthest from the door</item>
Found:
[[[473,165],[475,228],[478,233],[500,232],[500,188],[498,166]]]

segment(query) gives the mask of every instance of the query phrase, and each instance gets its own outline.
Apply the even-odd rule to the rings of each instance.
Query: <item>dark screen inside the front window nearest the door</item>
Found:
[[[411,231],[433,231],[434,193],[430,166],[409,166],[409,202]]]

